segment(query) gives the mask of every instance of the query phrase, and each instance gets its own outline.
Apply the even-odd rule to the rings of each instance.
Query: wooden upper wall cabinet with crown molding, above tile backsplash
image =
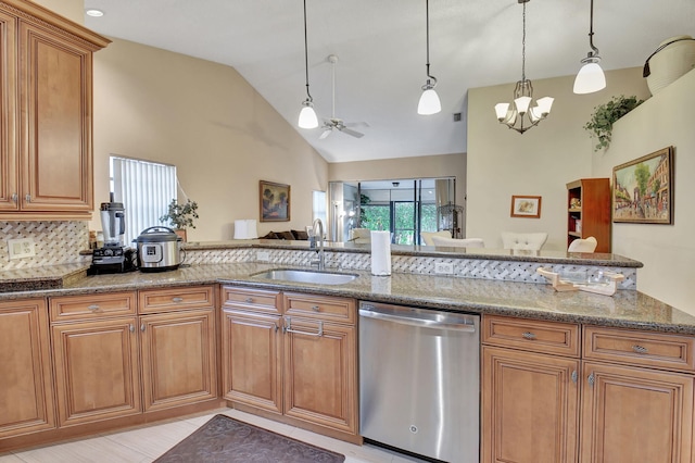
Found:
[[[89,218],[92,53],[110,42],[25,0],[0,1],[0,216]]]

